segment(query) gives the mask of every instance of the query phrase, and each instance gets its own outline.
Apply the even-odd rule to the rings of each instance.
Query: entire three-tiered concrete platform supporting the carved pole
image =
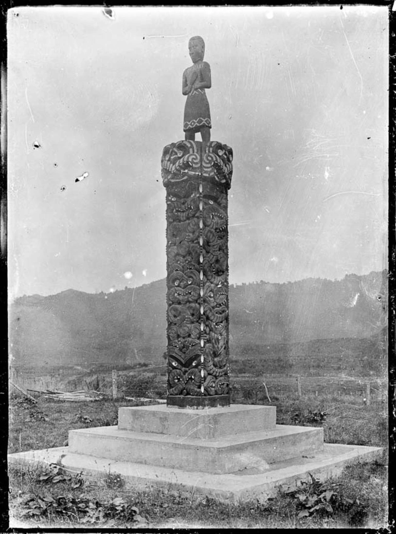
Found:
[[[323,429],[275,424],[273,406],[203,410],[120,408],[117,427],[71,430],[69,446],[9,455],[9,462],[60,462],[86,476],[120,473],[139,488],[159,486],[222,500],[265,501],[308,473],[326,478],[379,447],[323,443]]]

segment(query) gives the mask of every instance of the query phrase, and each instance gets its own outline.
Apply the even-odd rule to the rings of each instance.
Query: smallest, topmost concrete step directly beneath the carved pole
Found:
[[[164,405],[125,406],[118,410],[119,430],[211,439],[275,430],[276,407],[231,404],[205,410]]]

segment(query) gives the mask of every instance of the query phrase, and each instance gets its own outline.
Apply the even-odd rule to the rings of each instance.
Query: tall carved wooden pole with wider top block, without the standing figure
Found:
[[[161,160],[167,218],[168,406],[230,404],[228,190],[232,149],[192,140]]]

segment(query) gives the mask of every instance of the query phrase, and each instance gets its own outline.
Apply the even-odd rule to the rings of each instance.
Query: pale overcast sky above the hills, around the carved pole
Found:
[[[8,12],[10,297],[166,276],[160,159],[193,35],[234,150],[230,282],[386,266],[387,7],[113,12]]]

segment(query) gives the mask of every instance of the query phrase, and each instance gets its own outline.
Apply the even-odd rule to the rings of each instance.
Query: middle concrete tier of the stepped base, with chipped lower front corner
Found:
[[[196,439],[117,427],[69,431],[69,452],[185,471],[265,471],[276,461],[312,456],[323,448],[323,429],[276,425],[275,430]]]

